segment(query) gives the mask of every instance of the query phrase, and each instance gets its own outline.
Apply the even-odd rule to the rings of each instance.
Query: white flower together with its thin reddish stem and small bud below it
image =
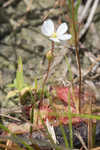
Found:
[[[67,30],[68,30],[68,25],[67,23],[64,22],[64,23],[61,23],[58,26],[57,30],[55,31],[55,26],[51,19],[45,20],[41,27],[42,33],[52,41],[52,46],[51,46],[52,48],[46,55],[48,59],[48,69],[47,69],[46,77],[42,84],[41,98],[43,97],[44,86],[48,78],[50,66],[53,60],[53,51],[54,51],[55,43],[60,43],[62,41],[70,40],[72,37],[71,34],[66,33]]]

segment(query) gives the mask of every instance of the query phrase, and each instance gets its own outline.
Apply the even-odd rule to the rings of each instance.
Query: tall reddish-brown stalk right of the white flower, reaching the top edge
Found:
[[[78,63],[78,70],[79,70],[79,112],[80,112],[80,103],[81,103],[81,64],[80,64],[80,57],[79,57],[79,48],[78,48],[78,36],[76,31],[76,23],[75,23],[75,17],[74,17],[74,0],[71,0],[72,2],[72,22],[73,22],[73,30],[75,35],[75,50],[76,50],[76,58]]]

